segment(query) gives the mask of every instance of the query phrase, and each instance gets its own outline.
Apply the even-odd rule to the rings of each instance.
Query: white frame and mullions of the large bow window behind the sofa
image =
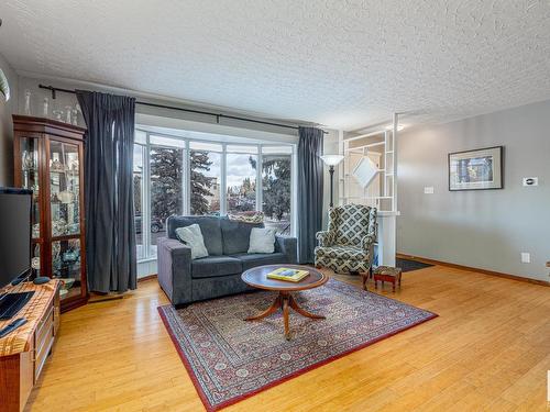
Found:
[[[251,155],[250,153],[237,153],[237,152],[228,152],[227,146],[235,145],[235,146],[255,146],[257,148],[257,166],[256,166],[256,211],[263,210],[263,179],[262,179],[262,162],[263,162],[263,149],[264,147],[285,147],[290,148],[289,153],[287,152],[271,152],[266,153],[270,155],[290,155],[290,235],[296,236],[296,224],[297,224],[297,144],[295,143],[242,143],[239,141],[238,143],[232,142],[219,142],[216,140],[202,140],[202,138],[190,138],[184,136],[175,136],[166,133],[158,132],[150,132],[139,126],[135,127],[135,131],[140,133],[145,133],[145,143],[136,142],[134,145],[142,146],[142,162],[143,162],[143,186],[142,186],[142,243],[144,255],[138,259],[139,263],[145,261],[154,261],[157,259],[157,256],[152,253],[152,244],[151,244],[151,147],[169,147],[174,148],[175,146],[160,145],[155,143],[151,143],[151,136],[166,137],[176,141],[185,142],[185,147],[183,148],[183,187],[182,190],[183,199],[183,212],[185,215],[190,214],[191,209],[191,181],[190,181],[190,143],[191,142],[201,142],[201,143],[210,143],[221,145],[221,152],[218,151],[207,151],[212,153],[220,154],[220,216],[226,216],[228,212],[228,202],[227,202],[227,155],[228,154],[240,154],[240,155]],[[230,136],[228,136],[230,137]],[[182,148],[182,147],[179,147]]]

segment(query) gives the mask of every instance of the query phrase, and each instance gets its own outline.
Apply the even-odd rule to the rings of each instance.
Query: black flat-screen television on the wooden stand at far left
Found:
[[[0,320],[12,318],[31,299],[12,286],[31,274],[32,191],[0,188]]]

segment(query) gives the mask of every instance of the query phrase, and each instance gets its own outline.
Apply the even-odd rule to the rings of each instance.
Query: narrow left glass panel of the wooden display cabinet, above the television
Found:
[[[40,227],[40,175],[38,175],[38,140],[35,137],[23,137],[21,145],[21,187],[33,191],[32,202],[32,237],[41,236]]]

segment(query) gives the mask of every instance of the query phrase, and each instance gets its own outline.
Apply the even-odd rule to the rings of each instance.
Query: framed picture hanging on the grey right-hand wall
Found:
[[[503,146],[449,154],[450,191],[503,188]]]

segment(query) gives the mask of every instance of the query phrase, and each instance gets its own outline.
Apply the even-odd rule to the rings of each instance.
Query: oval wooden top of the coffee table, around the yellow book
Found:
[[[289,269],[297,269],[297,270],[307,270],[309,275],[298,282],[267,278],[267,274],[282,267]],[[283,292],[314,289],[321,285],[324,285],[329,280],[328,276],[323,275],[319,270],[309,266],[300,266],[300,265],[257,266],[252,269],[245,270],[241,275],[241,279],[246,285],[252,286],[254,288],[265,289],[265,290],[278,290]]]

